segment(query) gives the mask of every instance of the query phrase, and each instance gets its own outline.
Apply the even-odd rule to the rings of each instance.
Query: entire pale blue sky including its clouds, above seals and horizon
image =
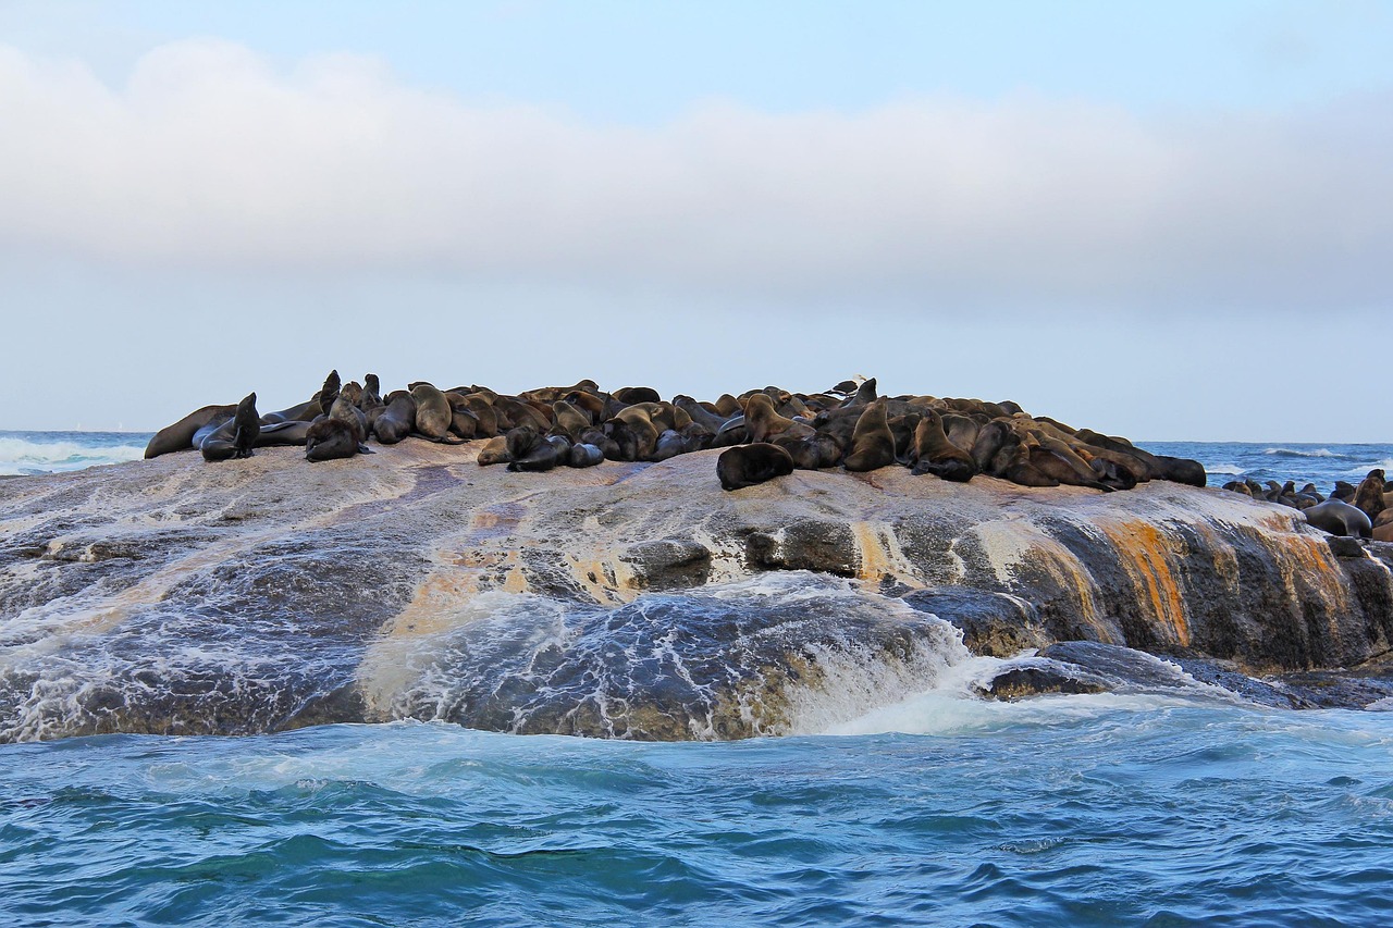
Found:
[[[1393,1],[0,0],[0,429],[330,368],[1389,442]]]

